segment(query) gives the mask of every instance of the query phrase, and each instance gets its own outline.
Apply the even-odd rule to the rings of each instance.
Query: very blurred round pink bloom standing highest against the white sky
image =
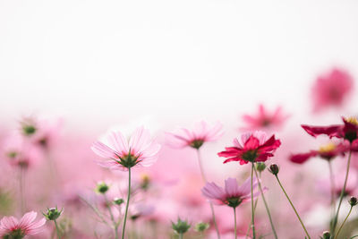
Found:
[[[325,107],[341,107],[354,87],[353,77],[345,70],[334,68],[320,75],[312,87],[313,108],[320,111]]]

